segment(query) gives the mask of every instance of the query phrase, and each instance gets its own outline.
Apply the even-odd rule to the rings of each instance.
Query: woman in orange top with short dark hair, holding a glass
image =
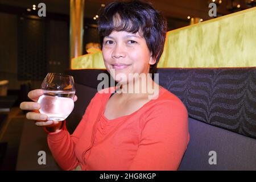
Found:
[[[98,30],[106,69],[119,86],[96,93],[74,133],[65,121],[33,111],[42,90],[28,93],[35,102],[20,108],[32,110],[27,118],[47,131],[65,170],[176,170],[189,141],[187,110],[148,74],[162,55],[166,21],[148,3],[113,2],[102,10]]]

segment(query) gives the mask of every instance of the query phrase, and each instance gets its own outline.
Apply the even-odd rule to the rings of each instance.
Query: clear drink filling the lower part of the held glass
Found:
[[[48,120],[63,121],[74,108],[74,96],[75,91],[44,90],[38,100],[41,105],[39,111],[48,115]]]

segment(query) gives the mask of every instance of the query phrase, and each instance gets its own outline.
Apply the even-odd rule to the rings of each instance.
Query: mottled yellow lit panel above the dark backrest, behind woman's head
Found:
[[[167,32],[158,68],[256,67],[256,7]],[[72,69],[104,69],[101,52]]]

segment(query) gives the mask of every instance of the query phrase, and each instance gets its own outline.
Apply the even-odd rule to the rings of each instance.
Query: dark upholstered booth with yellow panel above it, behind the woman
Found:
[[[256,170],[255,15],[256,7],[167,32],[159,84],[187,107],[191,136],[179,170]],[[106,73],[101,52],[74,58],[71,68],[78,100],[70,133]],[[39,150],[47,166],[38,165]],[[16,169],[59,169],[32,122],[24,125]]]

